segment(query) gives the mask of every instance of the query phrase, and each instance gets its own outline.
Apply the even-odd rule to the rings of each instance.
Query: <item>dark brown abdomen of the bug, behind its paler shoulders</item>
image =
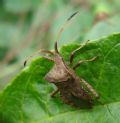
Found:
[[[64,103],[80,108],[92,106],[90,95],[73,79],[57,83],[56,86]]]

